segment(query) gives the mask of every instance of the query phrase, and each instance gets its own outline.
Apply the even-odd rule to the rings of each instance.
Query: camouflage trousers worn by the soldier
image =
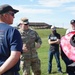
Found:
[[[41,75],[41,62],[38,58],[21,61],[23,75],[31,75],[31,70],[34,75]]]

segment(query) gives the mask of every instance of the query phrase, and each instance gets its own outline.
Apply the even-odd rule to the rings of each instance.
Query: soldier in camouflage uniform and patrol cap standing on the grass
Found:
[[[41,62],[38,58],[37,49],[40,48],[42,41],[38,33],[29,28],[27,18],[22,18],[19,32],[23,40],[23,54],[21,57],[23,75],[41,75]],[[31,68],[31,69],[30,69]]]

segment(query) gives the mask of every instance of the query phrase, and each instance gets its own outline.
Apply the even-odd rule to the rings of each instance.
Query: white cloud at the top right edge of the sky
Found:
[[[75,2],[75,0],[38,0],[39,4],[46,7],[59,7],[64,3]]]

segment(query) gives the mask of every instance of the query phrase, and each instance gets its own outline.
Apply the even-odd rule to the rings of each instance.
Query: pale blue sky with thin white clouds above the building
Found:
[[[21,18],[26,17],[29,22],[69,28],[70,21],[75,19],[75,0],[0,0],[2,4],[19,10],[12,26],[17,26]]]

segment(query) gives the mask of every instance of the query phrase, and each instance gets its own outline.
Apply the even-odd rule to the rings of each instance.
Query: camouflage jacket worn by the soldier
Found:
[[[19,32],[21,34],[23,44],[26,44],[26,47],[28,49],[27,52],[23,53],[23,58],[31,59],[31,58],[38,57],[38,54],[35,48],[35,43],[42,44],[42,40],[39,37],[38,33],[31,29],[24,30],[24,31],[19,29]]]

